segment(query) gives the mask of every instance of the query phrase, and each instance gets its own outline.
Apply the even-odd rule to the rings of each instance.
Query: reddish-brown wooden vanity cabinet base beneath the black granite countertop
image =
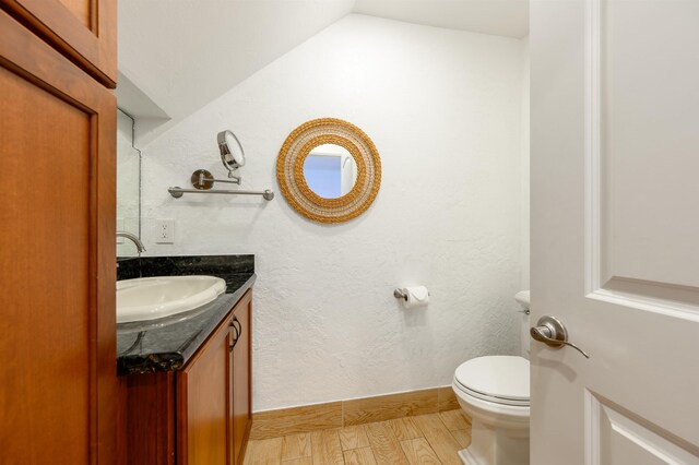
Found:
[[[248,290],[187,365],[127,377],[129,465],[238,465],[251,426]]]

